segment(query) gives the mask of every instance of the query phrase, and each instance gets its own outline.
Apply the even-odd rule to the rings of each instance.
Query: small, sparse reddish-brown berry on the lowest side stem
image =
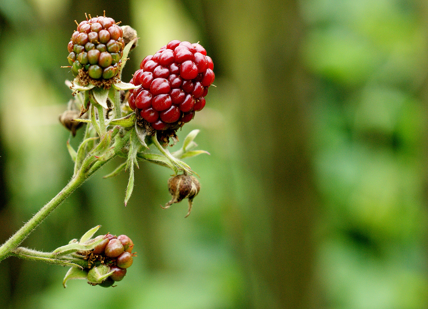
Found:
[[[95,270],[93,267],[99,264],[107,265],[110,267],[110,271],[114,270],[114,273],[107,279],[98,283],[103,287],[109,287],[115,281],[122,280],[126,275],[127,268],[132,265],[135,254],[132,253],[134,243],[126,235],[119,235],[117,237],[111,234],[99,235],[94,238],[94,241],[100,239],[103,240],[101,244],[86,253],[85,259],[88,260],[89,267],[92,268],[91,270]]]

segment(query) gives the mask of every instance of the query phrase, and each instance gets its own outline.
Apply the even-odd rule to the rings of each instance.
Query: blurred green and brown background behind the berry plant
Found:
[[[178,132],[211,153],[187,160],[202,189],[184,219],[159,207],[171,172],[141,163],[125,208],[109,163],[23,245],[101,224],[134,241],[125,279],[64,289],[65,268],[12,257],[0,308],[428,307],[425,1],[0,0],[1,242],[72,175],[60,66],[74,19],[104,9],[140,36],[124,80],[172,39],[213,58],[217,88]]]

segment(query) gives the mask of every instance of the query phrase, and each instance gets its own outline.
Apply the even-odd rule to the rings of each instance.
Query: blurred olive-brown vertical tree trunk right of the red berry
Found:
[[[204,2],[217,72],[238,87],[245,264],[255,308],[309,308],[312,185],[297,1]],[[217,62],[216,62],[217,60]]]

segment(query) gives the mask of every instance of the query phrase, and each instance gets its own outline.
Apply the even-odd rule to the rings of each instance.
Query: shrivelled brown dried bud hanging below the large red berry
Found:
[[[172,195],[172,199],[166,203],[164,209],[169,208],[173,203],[181,202],[183,199],[189,199],[189,211],[187,216],[192,210],[193,198],[198,195],[201,184],[199,181],[187,174],[177,175],[168,179],[168,190]]]

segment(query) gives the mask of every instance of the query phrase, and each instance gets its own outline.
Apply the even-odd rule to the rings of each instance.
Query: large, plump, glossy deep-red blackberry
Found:
[[[155,130],[179,128],[205,107],[214,64],[198,43],[174,40],[147,56],[130,83],[128,104]]]

